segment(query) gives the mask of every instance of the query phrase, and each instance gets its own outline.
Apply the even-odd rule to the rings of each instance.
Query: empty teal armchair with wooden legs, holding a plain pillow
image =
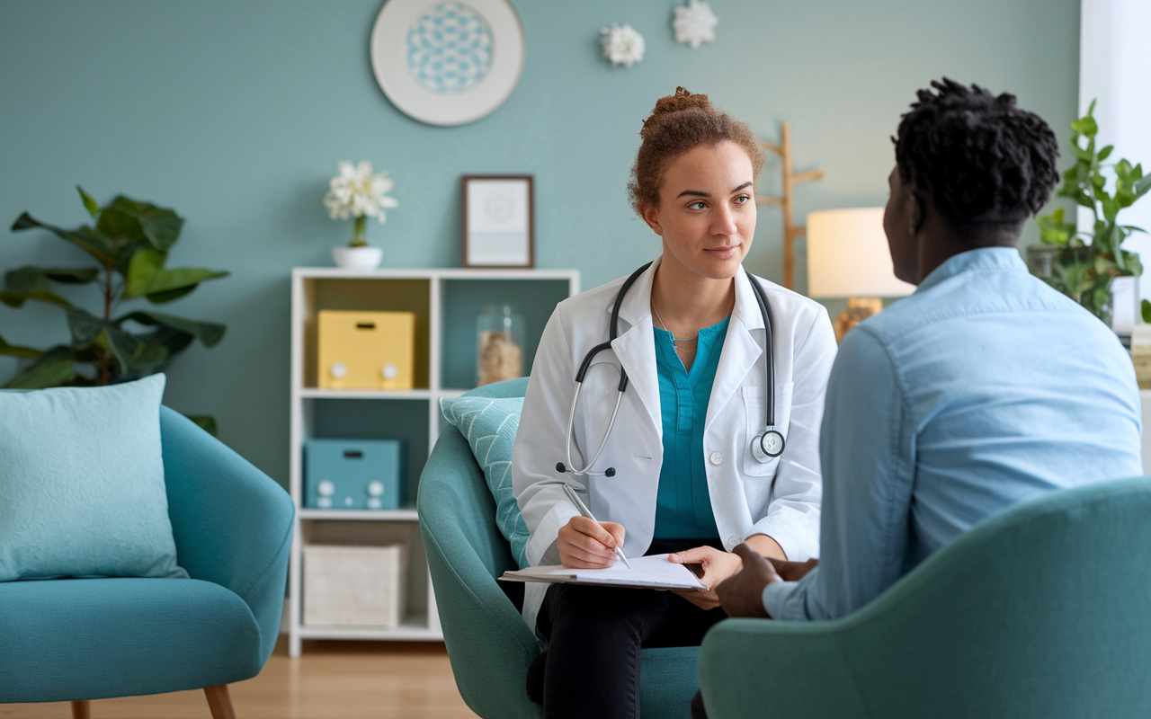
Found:
[[[294,505],[262,472],[160,408],[180,566],[191,579],[0,583],[0,703],[73,702],[205,689],[256,676],[275,645]]]

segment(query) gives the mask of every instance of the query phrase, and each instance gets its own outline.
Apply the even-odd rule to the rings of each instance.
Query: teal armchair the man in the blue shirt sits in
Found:
[[[836,621],[721,622],[700,682],[710,719],[1151,717],[1151,481],[1012,507]]]

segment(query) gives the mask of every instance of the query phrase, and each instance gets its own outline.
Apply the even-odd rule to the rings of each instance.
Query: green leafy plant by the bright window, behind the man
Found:
[[[1119,211],[1130,207],[1151,190],[1151,176],[1143,176],[1143,166],[1120,160],[1105,163],[1114,147],[1096,150],[1098,124],[1092,116],[1095,102],[1087,115],[1072,122],[1072,152],[1075,165],[1064,173],[1060,197],[1069,197],[1095,215],[1090,232],[1080,232],[1074,222],[1064,216],[1064,208],[1039,217],[1039,236],[1057,250],[1051,262],[1051,276],[1045,277],[1053,288],[1083,305],[1097,318],[1111,324],[1111,283],[1115,277],[1139,276],[1143,265],[1134,252],[1122,248],[1131,232],[1144,231],[1129,224],[1119,224]],[[1085,144],[1084,144],[1085,140]],[[1105,168],[1111,168],[1115,182],[1107,191]],[[1149,306],[1144,303],[1144,314]]]

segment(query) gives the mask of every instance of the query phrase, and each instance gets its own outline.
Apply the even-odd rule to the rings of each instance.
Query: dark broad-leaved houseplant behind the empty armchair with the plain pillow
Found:
[[[33,300],[63,309],[70,342],[47,350],[8,344],[0,337],[0,354],[32,360],[5,387],[90,387],[136,380],[159,372],[175,354],[198,339],[205,347],[223,337],[226,326],[186,320],[176,315],[134,309],[120,312],[122,303],[146,299],[153,305],[169,303],[195,290],[205,280],[227,271],[168,269],[165,262],[180,238],[183,217],[123,196],[100,207],[83,189],[84,207],[93,223],[64,230],[22,214],[13,231],[41,228],[86,252],[94,267],[21,267],[5,274],[0,301],[22,307]],[[97,314],[74,305],[60,295],[60,285],[94,284],[99,291]],[[84,368],[86,366],[86,368]],[[211,418],[192,418],[212,430]]]

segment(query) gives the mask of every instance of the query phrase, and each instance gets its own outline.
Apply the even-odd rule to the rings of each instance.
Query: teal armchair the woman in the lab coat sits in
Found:
[[[526,389],[526,378],[511,380],[467,395],[523,397]],[[539,719],[542,712],[527,698],[526,681],[527,667],[540,648],[496,582],[505,571],[517,568],[516,563],[496,528],[496,505],[483,472],[455,427],[441,433],[428,458],[417,508],[460,695],[485,719]],[[699,651],[698,647],[643,650],[640,707],[645,719],[691,717]]]

